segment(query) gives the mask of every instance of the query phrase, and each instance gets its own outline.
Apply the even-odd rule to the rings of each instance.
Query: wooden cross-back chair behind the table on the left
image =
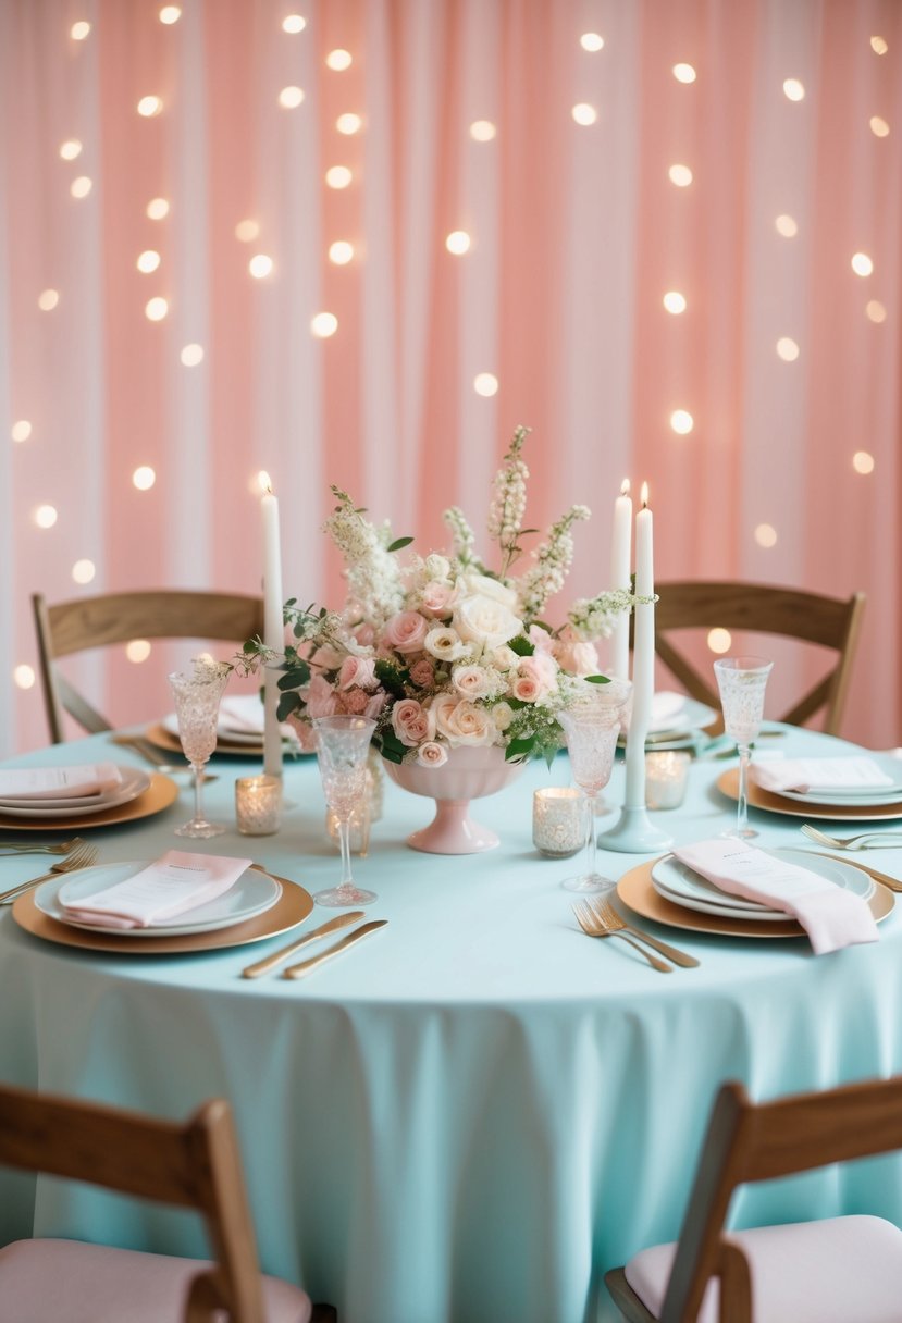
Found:
[[[32,605],[44,706],[53,744],[62,744],[65,738],[63,712],[91,734],[112,729],[60,672],[60,658],[131,639],[243,642],[263,632],[263,599],[234,593],[104,593],[57,606],[48,606],[36,593]]]

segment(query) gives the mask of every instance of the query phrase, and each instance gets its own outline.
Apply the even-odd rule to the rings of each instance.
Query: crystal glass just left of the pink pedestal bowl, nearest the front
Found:
[[[313,900],[333,909],[369,905],[376,892],[356,886],[350,876],[350,818],[368,794],[366,755],[376,722],[366,717],[317,717],[313,729],[325,802],[335,814],[341,847],[341,881],[316,892]]]

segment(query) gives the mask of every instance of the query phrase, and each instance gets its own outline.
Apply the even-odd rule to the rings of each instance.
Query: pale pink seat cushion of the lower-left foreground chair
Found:
[[[183,1323],[194,1258],[142,1254],[81,1241],[15,1241],[0,1249],[3,1323]],[[261,1278],[266,1323],[308,1323],[309,1297]]]

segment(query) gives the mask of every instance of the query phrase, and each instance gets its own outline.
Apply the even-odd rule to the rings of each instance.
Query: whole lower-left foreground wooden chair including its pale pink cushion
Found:
[[[185,1125],[0,1088],[0,1164],[85,1180],[202,1215],[214,1262],[67,1240],[0,1249],[4,1323],[336,1323],[298,1286],[262,1277],[231,1111]]]

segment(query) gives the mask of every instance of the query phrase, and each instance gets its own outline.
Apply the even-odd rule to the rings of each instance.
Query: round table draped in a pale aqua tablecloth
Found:
[[[815,732],[771,730],[760,749],[850,751]],[[15,765],[108,758],[140,765],[104,736]],[[717,782],[734,766],[694,758],[682,806],[649,820],[678,843],[722,833],[735,802]],[[79,835],[101,863],[186,848],[251,857],[308,893],[337,881],[315,758],[286,761],[278,833],[237,832],[234,781],[259,770],[250,758],[212,761],[206,808],[227,826],[214,839],[175,836],[190,812],[183,774],[165,810]],[[292,933],[251,946],[159,955],[140,939],[123,953],[60,945],[4,908],[0,1080],[171,1118],[227,1098],[263,1269],[337,1306],[343,1323],[616,1318],[603,1274],[678,1233],[722,1081],[772,1098],[902,1073],[902,921],[887,893],[878,942],[815,957],[805,937],[766,923],[735,937],[631,914],[700,962],[659,972],[624,942],[581,931],[561,886],[579,861],[533,845],[533,791],[567,783],[566,755],[530,763],[472,806],[500,845],[451,856],[405,844],[434,806],[386,779],[354,873],[377,893],[366,917],[388,923],[299,980],[242,970],[335,910],[315,908]],[[599,832],[618,820],[623,789],[619,761]],[[750,816],[764,848],[815,848],[804,816]],[[13,836],[0,832],[0,849]],[[599,851],[615,880],[652,857]],[[902,849],[849,857],[902,877]],[[0,890],[42,863],[1,859]],[[898,1175],[886,1158],[755,1187],[734,1224],[860,1211],[898,1222]],[[185,1213],[0,1172],[0,1238],[30,1234],[205,1253]]]

